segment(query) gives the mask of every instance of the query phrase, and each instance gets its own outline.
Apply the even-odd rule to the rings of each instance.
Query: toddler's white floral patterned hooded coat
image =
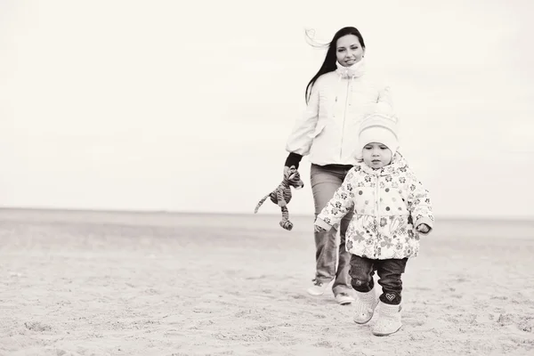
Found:
[[[361,257],[415,257],[420,236],[416,227],[425,223],[433,229],[428,190],[400,153],[392,164],[379,170],[364,163],[352,167],[315,225],[326,230],[337,228],[351,210],[354,216],[345,234],[346,249]]]

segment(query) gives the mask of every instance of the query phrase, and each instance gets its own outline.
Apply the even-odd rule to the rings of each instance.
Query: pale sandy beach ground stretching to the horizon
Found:
[[[313,297],[312,217],[0,211],[0,355],[533,355],[534,223],[442,221],[401,331]]]

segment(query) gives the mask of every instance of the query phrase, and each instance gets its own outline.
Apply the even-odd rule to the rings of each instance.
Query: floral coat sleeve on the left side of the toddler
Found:
[[[318,225],[325,230],[330,230],[330,228],[335,227],[337,229],[341,219],[344,218],[344,215],[348,214],[354,206],[354,192],[357,181],[357,173],[352,168],[347,176],[344,179],[344,182],[341,184],[336,192],[334,197],[332,197],[327,206],[325,206],[319,215],[317,215],[317,220],[315,225]]]

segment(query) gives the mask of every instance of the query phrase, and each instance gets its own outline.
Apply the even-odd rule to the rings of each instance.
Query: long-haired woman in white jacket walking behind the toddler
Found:
[[[287,140],[289,156],[284,169],[298,168],[303,156],[308,156],[312,163],[316,219],[349,169],[357,164],[361,120],[376,111],[392,115],[389,87],[366,72],[364,56],[365,43],[357,28],[336,32],[322,66],[306,86],[307,109]],[[341,222],[338,248],[337,227],[314,232],[316,272],[308,293],[322,295],[334,281],[332,291],[340,304],[354,301],[348,273],[351,255],[345,250],[345,232],[351,217],[352,214],[347,214]]]

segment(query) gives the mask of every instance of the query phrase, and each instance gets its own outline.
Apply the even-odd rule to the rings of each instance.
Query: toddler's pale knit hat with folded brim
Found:
[[[382,113],[374,113],[365,117],[360,125],[360,139],[356,150],[356,158],[362,158],[363,148],[371,142],[384,144],[392,151],[392,156],[394,156],[399,149],[398,121],[397,117]]]

